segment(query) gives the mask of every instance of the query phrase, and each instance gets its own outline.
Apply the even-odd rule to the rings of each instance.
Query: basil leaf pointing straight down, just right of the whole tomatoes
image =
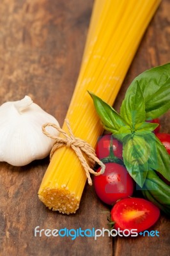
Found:
[[[148,172],[148,143],[141,136],[123,138],[123,161],[130,176],[142,187]]]

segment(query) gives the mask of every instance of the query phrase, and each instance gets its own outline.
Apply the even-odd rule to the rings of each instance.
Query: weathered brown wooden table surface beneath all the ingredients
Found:
[[[62,125],[79,74],[93,0],[1,0],[0,104],[25,95]],[[144,70],[170,60],[170,1],[163,0],[143,37],[114,108],[128,85]],[[170,115],[161,131],[170,133]],[[0,142],[1,143],[1,142]],[[86,185],[81,205],[69,216],[52,212],[37,193],[49,157],[24,167],[0,164],[0,255],[170,255],[169,220],[154,230],[159,237],[35,237],[40,228],[107,228],[108,207]]]

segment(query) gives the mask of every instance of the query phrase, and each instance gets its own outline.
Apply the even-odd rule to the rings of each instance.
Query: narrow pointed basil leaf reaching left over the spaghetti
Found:
[[[123,118],[111,107],[94,93],[89,92],[93,99],[95,109],[100,116],[100,120],[107,131],[116,134],[122,126],[127,125]]]

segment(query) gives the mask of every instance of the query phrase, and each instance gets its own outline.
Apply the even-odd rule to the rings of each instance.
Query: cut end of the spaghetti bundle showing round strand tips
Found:
[[[74,192],[62,185],[60,188],[42,188],[38,197],[52,211],[63,214],[75,213],[79,209],[80,198]]]

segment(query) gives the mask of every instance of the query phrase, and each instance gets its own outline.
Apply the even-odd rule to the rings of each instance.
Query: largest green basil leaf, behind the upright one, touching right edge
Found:
[[[127,93],[137,82],[143,92],[146,120],[166,113],[170,108],[170,63],[144,71],[132,81]]]

